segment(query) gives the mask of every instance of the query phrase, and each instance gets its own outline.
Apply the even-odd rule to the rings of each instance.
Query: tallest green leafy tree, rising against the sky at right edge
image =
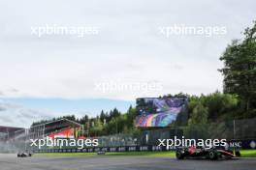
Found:
[[[246,28],[244,39],[227,46],[220,57],[224,68],[224,93],[237,94],[247,112],[256,107],[256,22]]]

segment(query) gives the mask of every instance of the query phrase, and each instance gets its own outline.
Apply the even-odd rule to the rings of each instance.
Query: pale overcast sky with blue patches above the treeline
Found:
[[[218,59],[251,26],[255,7],[254,0],[0,0],[0,125],[74,111],[95,115],[115,101],[125,110],[138,97],[221,91]],[[31,27],[46,25],[95,27],[98,34],[32,34]],[[167,38],[159,31],[173,25],[225,27],[226,34]],[[108,83],[129,87],[102,89]],[[74,109],[65,110],[68,100]],[[80,106],[88,100],[93,107]]]

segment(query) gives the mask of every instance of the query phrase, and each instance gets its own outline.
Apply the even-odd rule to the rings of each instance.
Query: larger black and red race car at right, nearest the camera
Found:
[[[240,156],[239,152],[236,152],[237,156]],[[183,147],[176,149],[176,158],[209,158],[211,160],[215,160],[218,158],[232,158],[235,157],[232,150],[226,150],[224,148],[197,148],[195,146],[191,147]]]

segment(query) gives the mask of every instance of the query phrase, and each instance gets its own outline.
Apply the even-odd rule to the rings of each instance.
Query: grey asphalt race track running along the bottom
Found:
[[[230,160],[150,156],[32,156],[0,155],[1,170],[253,170],[256,158]]]

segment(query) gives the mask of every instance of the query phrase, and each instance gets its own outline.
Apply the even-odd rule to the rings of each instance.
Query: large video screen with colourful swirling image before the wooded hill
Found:
[[[136,100],[136,126],[169,127],[187,106],[187,98],[144,98]]]

